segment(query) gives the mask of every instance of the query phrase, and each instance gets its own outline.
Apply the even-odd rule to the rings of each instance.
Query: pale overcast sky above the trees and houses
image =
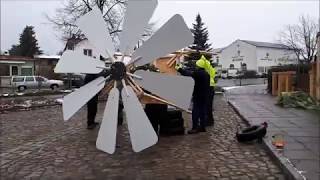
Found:
[[[295,24],[300,15],[309,15],[318,21],[319,1],[173,1],[158,0],[151,21],[160,27],[174,14],[181,14],[188,26],[200,13],[208,27],[214,48],[229,45],[236,39],[276,42],[286,24]],[[55,14],[61,0],[1,0],[1,50],[17,44],[26,25],[35,27],[39,46],[46,54],[56,54],[64,43],[44,14]]]

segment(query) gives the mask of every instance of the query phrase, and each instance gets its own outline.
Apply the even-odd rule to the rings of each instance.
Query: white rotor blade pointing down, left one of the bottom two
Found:
[[[101,151],[113,154],[116,147],[118,124],[119,90],[113,88],[108,96],[96,146]]]

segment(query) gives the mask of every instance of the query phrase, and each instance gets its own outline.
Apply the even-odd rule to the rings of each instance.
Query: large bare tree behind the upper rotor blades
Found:
[[[61,39],[66,41],[73,35],[82,37],[81,31],[75,25],[75,21],[97,6],[107,22],[108,27],[106,28],[108,28],[113,41],[118,42],[117,38],[121,32],[120,26],[124,18],[126,2],[127,0],[68,0],[64,1],[62,8],[56,10],[55,16],[46,15],[46,17],[57,31],[62,32]],[[154,23],[151,23],[145,29],[144,37],[152,34],[153,25]]]

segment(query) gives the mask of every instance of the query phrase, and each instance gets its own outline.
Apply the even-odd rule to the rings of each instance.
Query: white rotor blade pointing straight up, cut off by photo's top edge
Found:
[[[120,52],[125,55],[132,53],[157,4],[157,0],[128,0],[120,34]]]

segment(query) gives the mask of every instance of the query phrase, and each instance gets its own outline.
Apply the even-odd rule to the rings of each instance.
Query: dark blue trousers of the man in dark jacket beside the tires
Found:
[[[192,129],[206,126],[207,103],[205,101],[193,100]]]

